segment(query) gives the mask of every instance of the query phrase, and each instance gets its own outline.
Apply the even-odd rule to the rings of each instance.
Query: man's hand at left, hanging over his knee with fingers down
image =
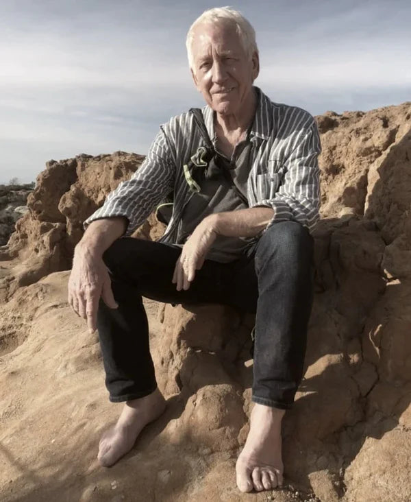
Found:
[[[103,258],[77,245],[69,278],[69,304],[75,313],[87,320],[90,333],[97,329],[100,296],[110,309],[119,307],[114,300],[110,276]]]

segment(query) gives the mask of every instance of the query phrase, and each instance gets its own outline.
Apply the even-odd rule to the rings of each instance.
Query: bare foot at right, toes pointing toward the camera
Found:
[[[282,485],[281,421],[284,409],[256,403],[251,411],[250,431],[236,463],[241,492],[271,490]]]

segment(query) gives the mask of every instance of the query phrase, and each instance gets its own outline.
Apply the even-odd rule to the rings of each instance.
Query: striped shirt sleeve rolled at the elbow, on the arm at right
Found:
[[[319,219],[321,143],[314,119],[297,133],[294,143],[295,147],[284,162],[284,178],[275,196],[256,204],[274,210],[266,229],[277,222],[294,220],[312,230]]]

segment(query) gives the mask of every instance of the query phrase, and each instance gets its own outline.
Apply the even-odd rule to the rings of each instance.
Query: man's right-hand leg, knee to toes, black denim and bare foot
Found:
[[[256,248],[258,278],[251,425],[236,464],[243,492],[282,483],[281,423],[301,381],[312,306],[313,241],[295,222],[273,225]]]

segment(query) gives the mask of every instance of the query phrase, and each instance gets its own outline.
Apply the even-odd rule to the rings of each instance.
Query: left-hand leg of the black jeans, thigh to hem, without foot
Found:
[[[118,239],[104,253],[118,309],[101,300],[97,326],[110,401],[147,396],[156,388],[142,296],[165,303],[222,302],[224,265],[206,260],[188,291],[171,282],[181,250],[140,239]]]

